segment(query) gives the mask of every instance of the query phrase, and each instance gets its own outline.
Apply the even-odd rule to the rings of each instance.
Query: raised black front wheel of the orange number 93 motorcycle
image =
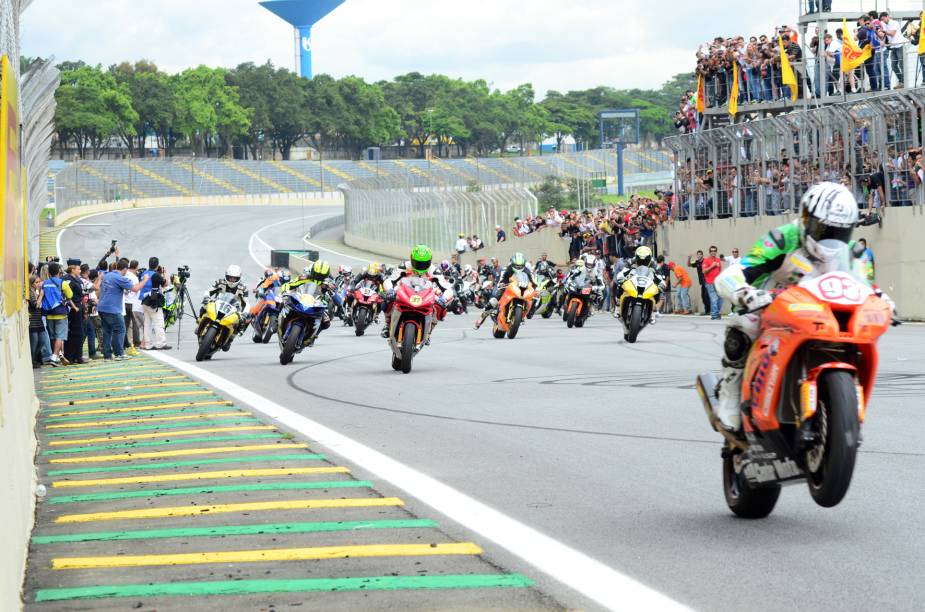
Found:
[[[844,370],[825,373],[819,384],[814,427],[822,436],[823,456],[819,468],[807,477],[807,483],[813,501],[823,508],[837,506],[844,499],[854,474],[860,440],[854,384],[854,377]]]

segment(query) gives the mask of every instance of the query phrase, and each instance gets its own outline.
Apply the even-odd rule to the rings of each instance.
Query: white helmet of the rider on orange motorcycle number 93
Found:
[[[823,240],[848,243],[858,223],[858,203],[851,191],[838,183],[810,187],[800,201],[803,247],[812,257],[825,261],[834,255]]]

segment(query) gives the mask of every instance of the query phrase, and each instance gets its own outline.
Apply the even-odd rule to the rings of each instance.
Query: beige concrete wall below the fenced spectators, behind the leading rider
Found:
[[[710,245],[729,255],[733,247],[745,255],[764,233],[792,221],[794,215],[777,217],[750,217],[746,219],[715,219],[707,221],[677,222],[667,231],[666,257],[683,266],[688,255],[697,250],[704,253]],[[890,208],[883,220],[883,228],[876,225],[858,228],[855,238],[866,238],[874,252],[876,282],[897,304],[903,319],[925,320],[925,210],[918,206]],[[550,253],[550,257],[552,254]],[[694,286],[691,300],[695,307],[703,307],[696,271],[688,269]],[[728,311],[728,306],[726,307]]]

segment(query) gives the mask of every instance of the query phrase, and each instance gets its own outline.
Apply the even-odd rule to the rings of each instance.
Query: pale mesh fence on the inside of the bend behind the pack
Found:
[[[379,186],[377,186],[379,187]],[[536,197],[523,187],[472,191],[467,188],[364,189],[341,185],[345,237],[353,247],[407,257],[411,245],[429,245],[441,257],[453,250],[458,234],[494,236],[496,225],[536,213]]]

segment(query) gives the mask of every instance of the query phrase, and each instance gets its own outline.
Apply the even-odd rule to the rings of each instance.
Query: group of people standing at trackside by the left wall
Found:
[[[113,257],[113,261],[109,258]],[[156,257],[147,268],[113,248],[96,265],[29,263],[29,341],[34,368],[166,350],[163,308],[172,290]]]

